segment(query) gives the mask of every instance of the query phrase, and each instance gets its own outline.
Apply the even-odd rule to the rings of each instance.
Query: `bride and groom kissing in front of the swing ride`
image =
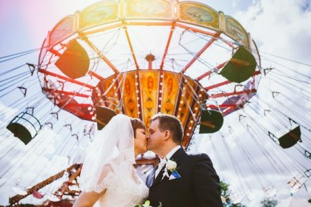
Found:
[[[133,207],[223,206],[220,181],[206,154],[187,155],[180,146],[182,125],[176,117],[158,114],[149,132],[140,119],[116,115],[86,150],[79,177],[82,193],[75,206]],[[160,163],[146,184],[133,167],[135,157],[151,150]]]

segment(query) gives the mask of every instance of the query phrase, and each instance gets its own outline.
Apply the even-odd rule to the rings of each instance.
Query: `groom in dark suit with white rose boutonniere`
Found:
[[[160,164],[147,177],[151,206],[223,207],[220,182],[206,154],[187,155],[180,146],[180,121],[159,114],[151,119],[148,148],[160,157]]]

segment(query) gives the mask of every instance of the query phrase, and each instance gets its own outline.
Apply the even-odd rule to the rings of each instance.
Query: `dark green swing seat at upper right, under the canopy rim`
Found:
[[[256,69],[256,60],[252,52],[240,46],[232,58],[220,71],[220,75],[235,83],[241,83],[251,77]]]

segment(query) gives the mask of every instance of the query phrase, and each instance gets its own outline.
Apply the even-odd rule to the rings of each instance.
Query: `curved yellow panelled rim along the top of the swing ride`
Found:
[[[137,9],[138,4],[140,5],[139,10]],[[216,32],[215,34],[226,34],[247,48],[251,46],[249,33],[238,21],[224,15],[223,12],[216,12],[209,6],[195,1],[164,0],[150,0],[148,3],[144,0],[107,0],[93,3],[84,10],[77,11],[75,14],[68,15],[60,20],[48,33],[48,43],[49,46],[55,46],[76,33],[87,34],[100,30],[104,31],[107,30],[107,26],[108,28],[126,26],[135,21],[142,23],[142,25],[150,25],[151,23],[160,26],[171,26],[172,21],[176,22],[176,26],[182,26],[182,23],[186,23],[213,30]],[[190,29],[200,32],[196,28]],[[212,34],[212,32],[209,33]]]

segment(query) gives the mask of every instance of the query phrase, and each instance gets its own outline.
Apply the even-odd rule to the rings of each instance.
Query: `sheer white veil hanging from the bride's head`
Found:
[[[115,115],[99,132],[86,149],[79,188],[84,192],[100,193],[107,187],[108,172],[114,164],[135,164],[134,132],[131,118]],[[109,166],[109,168],[106,168]],[[104,175],[104,176],[103,176]]]

